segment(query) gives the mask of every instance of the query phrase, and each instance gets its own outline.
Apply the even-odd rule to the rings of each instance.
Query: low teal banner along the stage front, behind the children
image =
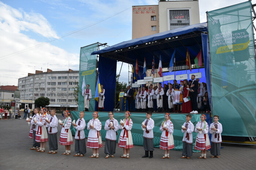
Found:
[[[208,118],[207,114],[207,118]],[[124,119],[124,113],[114,113],[114,118],[117,119],[118,123],[120,124],[120,119]],[[165,115],[164,114],[153,114],[151,118],[155,122],[155,127],[153,129],[154,131],[154,147],[159,148],[160,145],[160,139],[161,139],[161,134],[162,132],[160,131],[160,126],[163,120],[165,120]],[[210,116],[209,116],[210,118]],[[71,119],[72,121],[75,119],[79,119],[79,112],[76,111],[71,111]],[[89,130],[87,130],[87,123],[93,119],[93,112],[85,112],[84,115],[84,120],[86,122],[86,129],[84,130],[85,137],[88,137]],[[107,112],[101,112],[99,113],[99,120],[102,123],[102,128],[101,128],[101,138],[103,141],[105,141],[105,136],[106,136],[106,130],[104,130],[105,122],[106,120],[109,119],[108,113]],[[132,125],[132,141],[133,145],[138,145],[138,146],[143,146],[143,130],[141,129],[141,124],[142,122],[146,119],[146,114],[145,113],[136,113],[131,115],[131,119],[133,122]],[[181,132],[181,126],[183,123],[186,121],[186,115],[185,114],[171,114],[171,121],[173,123],[174,131],[173,131],[173,139],[174,139],[174,146],[175,148],[173,150],[179,150],[182,151],[183,147],[183,133]],[[191,122],[196,126],[196,123],[200,121],[200,114],[197,115],[192,115]],[[76,129],[71,125],[71,132],[72,135],[75,135]],[[117,131],[117,142],[118,138],[120,136],[121,130]],[[193,148],[195,147],[195,141],[196,141],[196,135],[197,133],[193,133]],[[193,149],[193,152],[199,152],[195,149]]]

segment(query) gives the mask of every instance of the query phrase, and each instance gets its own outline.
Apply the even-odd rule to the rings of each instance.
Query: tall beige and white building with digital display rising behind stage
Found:
[[[199,1],[159,1],[132,6],[132,39],[200,23]]]

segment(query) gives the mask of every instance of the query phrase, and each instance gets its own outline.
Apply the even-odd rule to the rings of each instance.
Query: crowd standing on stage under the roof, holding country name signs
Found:
[[[121,92],[123,89],[121,90]],[[158,86],[146,84],[143,87],[127,87],[126,97],[120,98],[120,111],[136,112],[179,112],[179,113],[207,113],[210,112],[210,103],[206,83],[199,82],[195,75],[191,80],[177,80],[174,83],[163,84]],[[124,107],[126,103],[126,108]]]

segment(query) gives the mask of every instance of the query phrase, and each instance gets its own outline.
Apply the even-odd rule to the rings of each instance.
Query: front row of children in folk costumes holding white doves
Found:
[[[172,88],[170,88],[172,89]],[[144,93],[143,93],[144,94]],[[102,124],[99,120],[99,113],[97,111],[93,112],[93,119],[91,119],[86,126],[84,120],[84,112],[79,112],[79,119],[71,119],[71,113],[66,110],[64,111],[64,119],[58,120],[56,117],[56,110],[50,110],[50,114],[46,108],[35,108],[33,117],[26,119],[28,123],[31,123],[29,137],[33,139],[33,146],[30,150],[35,150],[38,153],[45,152],[46,142],[49,145],[48,154],[58,153],[58,141],[57,141],[57,126],[61,126],[59,144],[65,146],[65,151],[61,155],[71,155],[71,145],[73,144],[73,138],[71,134],[70,127],[73,126],[76,129],[75,134],[75,154],[74,157],[84,157],[86,154],[86,147],[92,149],[92,155],[89,158],[99,158],[99,148],[103,147],[101,139]],[[141,129],[143,130],[143,149],[145,154],[142,158],[153,158],[154,151],[154,132],[153,128],[155,126],[154,120],[151,118],[152,112],[146,112],[146,119],[141,124]],[[202,114],[200,116],[201,121],[197,122],[196,127],[191,122],[193,115],[187,114],[186,120],[181,126],[181,131],[184,133],[182,139],[183,151],[180,158],[190,159],[193,150],[193,132],[197,133],[195,148],[201,151],[201,156],[199,159],[207,159],[206,152],[211,149],[211,158],[219,158],[221,149],[221,133],[222,125],[218,122],[219,116],[214,115],[214,123],[210,126],[206,122],[206,115]],[[171,121],[169,113],[163,116],[164,120],[157,122],[160,125],[160,130],[162,131],[161,140],[159,143],[160,149],[164,150],[164,155],[161,159],[170,159],[170,150],[175,148],[174,144],[174,127]],[[133,148],[132,141],[132,119],[131,112],[126,111],[124,114],[124,119],[120,120],[120,124],[116,119],[114,119],[114,113],[109,112],[109,119],[102,120],[105,121],[104,130],[106,131],[105,136],[105,146],[104,153],[105,158],[114,158],[116,153],[116,143],[119,148],[123,149],[123,154],[120,158],[130,158],[130,149]],[[87,144],[85,141],[84,129],[89,130]],[[118,142],[117,142],[117,131],[121,130]],[[208,137],[208,132],[212,135],[211,144]],[[61,148],[64,150],[64,147]]]

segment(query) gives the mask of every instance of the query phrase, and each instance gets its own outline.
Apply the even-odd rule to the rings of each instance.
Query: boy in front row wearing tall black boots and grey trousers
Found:
[[[145,150],[145,155],[142,158],[148,157],[148,151],[150,152],[150,156],[148,158],[153,158],[153,151],[154,151],[154,134],[153,128],[155,126],[155,122],[151,119],[152,112],[148,111],[146,113],[146,118],[144,120],[144,124],[142,123],[142,130],[143,130],[143,149]]]

